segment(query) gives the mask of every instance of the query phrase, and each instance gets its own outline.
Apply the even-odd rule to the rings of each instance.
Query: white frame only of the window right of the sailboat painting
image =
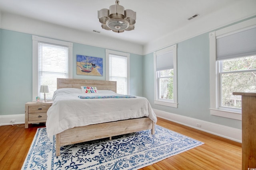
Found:
[[[106,49],[106,80],[109,80],[109,55],[120,55],[127,58],[127,95],[130,95],[130,54]]]

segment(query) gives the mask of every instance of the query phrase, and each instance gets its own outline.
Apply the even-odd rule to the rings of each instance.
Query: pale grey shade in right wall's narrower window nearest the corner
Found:
[[[169,48],[156,51],[156,71],[173,68],[173,52]]]

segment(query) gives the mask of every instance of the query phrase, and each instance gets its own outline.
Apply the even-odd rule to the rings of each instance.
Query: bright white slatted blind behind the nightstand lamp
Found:
[[[48,85],[46,98],[52,99],[57,78],[68,78],[68,47],[38,42],[38,94],[41,99],[44,98],[40,93],[41,85]]]

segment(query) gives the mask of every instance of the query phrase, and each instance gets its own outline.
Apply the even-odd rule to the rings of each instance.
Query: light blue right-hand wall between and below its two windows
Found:
[[[153,53],[143,59],[144,96],[153,108],[241,129],[241,121],[210,115],[209,34],[177,44],[178,108],[154,104]]]

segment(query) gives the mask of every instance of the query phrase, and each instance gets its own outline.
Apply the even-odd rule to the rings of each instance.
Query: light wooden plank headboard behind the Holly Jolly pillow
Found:
[[[112,90],[116,92],[116,81],[57,78],[57,89],[81,88],[81,86],[93,86],[97,90]]]

